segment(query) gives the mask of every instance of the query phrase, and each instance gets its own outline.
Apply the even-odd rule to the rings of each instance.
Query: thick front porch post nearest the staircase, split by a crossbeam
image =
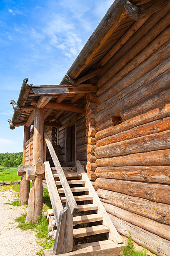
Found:
[[[34,118],[34,141],[33,141],[33,165],[37,164],[40,158],[43,162],[44,154],[44,109],[35,106]],[[28,200],[28,210],[26,223],[37,222],[38,216],[41,215],[43,200],[42,176],[37,175],[32,181],[30,195]]]

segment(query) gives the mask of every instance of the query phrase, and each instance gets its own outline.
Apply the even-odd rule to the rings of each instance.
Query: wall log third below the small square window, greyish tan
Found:
[[[170,148],[170,130],[97,147],[97,158],[122,156]]]

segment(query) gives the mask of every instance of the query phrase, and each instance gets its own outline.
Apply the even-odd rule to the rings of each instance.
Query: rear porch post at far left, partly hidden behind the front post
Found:
[[[24,141],[23,141],[23,166],[25,165],[25,143],[30,139],[30,126],[24,126]],[[23,205],[28,202],[30,193],[30,181],[26,180],[26,173],[24,172],[20,183],[20,204]]]

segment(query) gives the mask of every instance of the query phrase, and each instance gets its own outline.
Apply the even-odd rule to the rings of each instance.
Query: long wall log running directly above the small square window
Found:
[[[147,97],[148,95],[152,95],[152,93],[157,92],[158,90],[162,89],[166,85],[168,85],[170,82],[170,59],[167,65],[167,71],[163,74],[160,74],[158,77],[155,77],[148,83],[144,84],[143,86],[139,87],[138,89],[135,89],[136,86],[134,86],[134,90],[130,89],[130,93],[123,97],[121,95],[121,99],[118,99],[115,103],[112,105],[106,107],[104,110],[102,110],[100,113],[98,113],[95,116],[95,120],[99,122],[103,119],[105,116],[112,115],[112,113],[117,113],[122,110],[122,106],[124,108],[127,108],[128,106],[134,104],[135,102],[138,102],[141,100],[142,97]],[[139,83],[138,83],[139,84]],[[136,84],[135,84],[136,85]],[[128,88],[127,88],[128,89]],[[119,96],[120,97],[120,96]],[[124,109],[123,108],[123,109]],[[123,112],[123,110],[122,110]],[[125,118],[123,118],[125,119]]]

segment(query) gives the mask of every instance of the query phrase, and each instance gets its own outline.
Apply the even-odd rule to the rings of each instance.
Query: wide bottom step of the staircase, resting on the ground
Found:
[[[124,244],[116,244],[111,240],[94,243],[77,244],[76,251],[58,254],[58,256],[118,256]],[[43,251],[43,256],[54,256],[53,248]]]

